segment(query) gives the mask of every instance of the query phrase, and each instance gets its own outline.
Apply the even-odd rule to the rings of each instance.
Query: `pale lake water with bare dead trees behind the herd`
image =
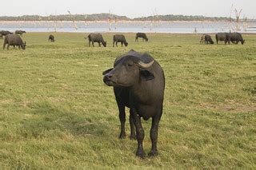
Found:
[[[78,33],[174,33],[203,34],[232,32],[256,34],[256,22],[243,23],[235,30],[232,22],[0,22],[0,30],[26,30],[27,32],[78,32]],[[244,27],[247,27],[245,30]],[[75,29],[77,28],[77,29]]]

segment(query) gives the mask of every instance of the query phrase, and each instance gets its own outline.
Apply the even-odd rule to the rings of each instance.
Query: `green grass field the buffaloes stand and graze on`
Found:
[[[89,47],[85,34],[24,34],[26,50],[0,49],[2,168],[256,168],[256,35],[244,45],[200,45],[200,35],[149,34],[149,42]],[[2,45],[3,40],[0,39]],[[96,46],[98,46],[96,44]],[[130,49],[166,74],[159,156],[119,140],[113,89],[102,71]],[[130,132],[126,111],[126,134]],[[150,124],[142,121],[150,152]]]

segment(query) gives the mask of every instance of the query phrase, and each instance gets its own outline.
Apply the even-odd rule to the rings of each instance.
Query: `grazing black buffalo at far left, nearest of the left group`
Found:
[[[26,49],[26,42],[22,41],[22,38],[20,36],[18,36],[17,34],[8,34],[5,37],[4,43],[3,43],[3,49],[6,48],[6,44],[7,45],[7,49],[9,49],[10,45],[17,45],[18,49]]]

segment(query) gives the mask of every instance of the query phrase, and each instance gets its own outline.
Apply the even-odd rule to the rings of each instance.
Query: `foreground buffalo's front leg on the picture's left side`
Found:
[[[134,125],[136,128],[136,136],[138,141],[136,156],[144,158],[145,152],[143,150],[142,143],[143,143],[145,134],[144,134],[144,129],[142,128],[141,117],[138,116],[138,114],[134,111],[134,109],[132,110],[132,116],[134,118]]]

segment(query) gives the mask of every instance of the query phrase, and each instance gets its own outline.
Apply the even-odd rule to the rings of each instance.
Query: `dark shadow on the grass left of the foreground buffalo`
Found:
[[[20,135],[26,138],[44,138],[59,136],[62,132],[69,132],[74,136],[105,136],[106,125],[74,113],[63,107],[40,102],[30,105],[32,116],[22,121]]]

